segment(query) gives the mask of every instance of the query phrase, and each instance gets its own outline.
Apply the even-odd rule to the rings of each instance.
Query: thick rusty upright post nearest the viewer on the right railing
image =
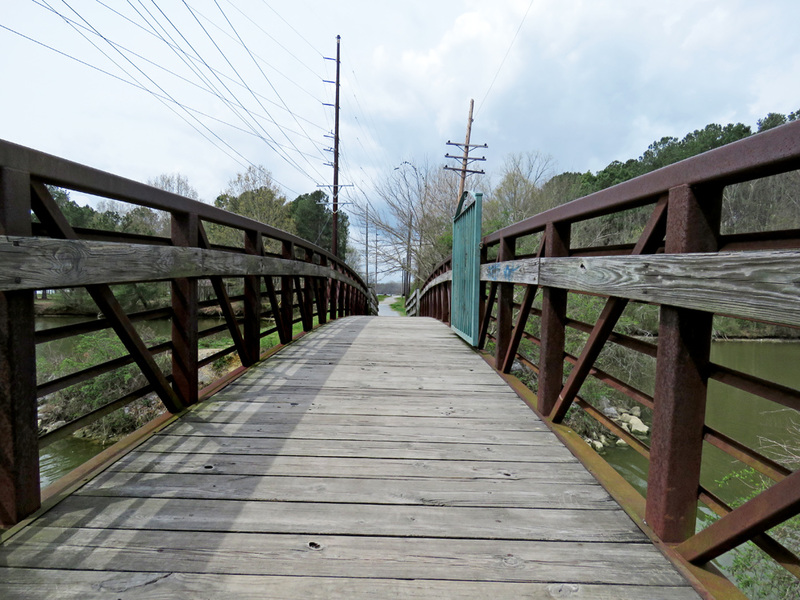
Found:
[[[722,190],[669,191],[664,251],[716,252]],[[667,543],[694,534],[713,314],[662,305],[653,402],[648,524]]]

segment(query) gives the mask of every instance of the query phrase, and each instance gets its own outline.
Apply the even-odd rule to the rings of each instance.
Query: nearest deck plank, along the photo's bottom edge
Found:
[[[98,591],[119,600],[693,600],[686,587],[285,577],[205,573],[7,569],[8,600],[83,600]]]

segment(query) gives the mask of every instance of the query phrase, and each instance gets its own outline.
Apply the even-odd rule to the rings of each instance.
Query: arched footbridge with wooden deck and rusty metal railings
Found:
[[[798,167],[792,124],[483,238],[475,350],[446,325],[471,289],[450,261],[409,303],[428,318],[370,316],[358,275],[303,240],[0,142],[0,597],[743,598],[710,562],[742,543],[800,575],[770,531],[800,510],[800,475],[704,421],[709,379],[800,409],[797,390],[708,352],[714,314],[800,326],[800,232],[719,231],[725,186]],[[171,238],[73,228],[47,185],[168,211]],[[629,209],[647,211],[638,242],[570,247],[572,224]],[[241,244],[213,244],[208,224]],[[172,306],[126,313],[115,287],[152,281]],[[34,333],[34,291],[79,286],[102,318]],[[607,298],[594,323],[569,317],[576,293]],[[615,330],[629,302],[660,306],[657,345]],[[201,330],[211,304],[226,324]],[[163,317],[171,341],[148,346],[137,325]],[[107,328],[127,356],[37,381],[36,344]],[[231,347],[199,359],[220,330]],[[656,359],[654,394],[596,365],[608,344]],[[234,352],[243,367],[199,389],[198,368]],[[130,363],[146,385],[38,435],[40,403]],[[588,377],[641,405],[649,443],[578,395]],[[148,394],[167,413],[39,489],[39,448]],[[571,407],[649,459],[646,496],[563,424]],[[711,446],[763,491],[720,498]],[[698,526],[698,501],[719,518]]]

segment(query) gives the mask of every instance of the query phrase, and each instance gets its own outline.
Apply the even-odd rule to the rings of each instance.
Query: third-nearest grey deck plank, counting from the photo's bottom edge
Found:
[[[244,531],[398,538],[642,542],[616,509],[254,502],[72,496],[34,527]]]

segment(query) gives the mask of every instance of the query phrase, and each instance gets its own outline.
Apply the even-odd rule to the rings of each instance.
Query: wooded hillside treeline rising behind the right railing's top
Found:
[[[719,148],[800,118],[769,113],[754,132],[749,125],[712,123],[683,138],[663,137],[639,158],[613,161],[592,173],[553,175],[552,159],[541,153],[511,155],[502,178],[485,202],[484,231],[489,233],[524,218],[655,171],[667,165]],[[725,190],[722,232],[743,233],[800,227],[800,176],[797,172],[769,177]],[[631,242],[641,231],[647,211],[632,210],[593,219],[573,228],[573,246],[601,246]]]

